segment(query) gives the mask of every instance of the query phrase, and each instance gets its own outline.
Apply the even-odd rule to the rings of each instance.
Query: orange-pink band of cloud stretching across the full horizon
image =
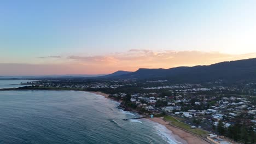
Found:
[[[57,64],[0,64],[0,75],[107,74],[117,70],[209,65],[254,57],[256,53],[230,55],[219,52],[132,49],[102,56],[62,56],[62,63]]]

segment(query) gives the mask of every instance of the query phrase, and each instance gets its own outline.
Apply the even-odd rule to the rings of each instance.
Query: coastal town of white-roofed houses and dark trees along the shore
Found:
[[[209,143],[255,143],[256,83],[168,80],[43,79],[28,89],[102,92],[120,109],[162,118]],[[24,89],[23,88],[23,89]]]

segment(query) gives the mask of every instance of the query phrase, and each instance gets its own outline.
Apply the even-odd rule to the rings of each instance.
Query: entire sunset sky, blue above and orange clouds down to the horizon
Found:
[[[0,75],[108,74],[256,57],[256,1],[0,3]]]

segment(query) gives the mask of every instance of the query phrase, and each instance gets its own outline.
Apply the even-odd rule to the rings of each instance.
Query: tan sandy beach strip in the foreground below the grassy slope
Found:
[[[187,131],[171,126],[168,122],[165,122],[161,117],[147,118],[147,119],[149,119],[150,121],[165,125],[165,127],[171,130],[174,135],[179,136],[181,139],[185,140],[188,144],[194,144],[194,143],[209,144],[205,140],[202,140],[199,136],[190,134]]]

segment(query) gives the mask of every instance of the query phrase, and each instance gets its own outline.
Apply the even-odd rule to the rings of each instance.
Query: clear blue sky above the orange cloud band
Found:
[[[131,49],[256,52],[256,1],[1,1],[0,63]]]

